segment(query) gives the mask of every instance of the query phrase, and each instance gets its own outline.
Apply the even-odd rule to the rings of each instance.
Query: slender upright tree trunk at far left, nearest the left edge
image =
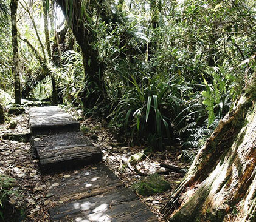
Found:
[[[17,10],[18,0],[10,2],[11,19],[12,19],[12,47],[13,47],[13,64],[12,73],[14,77],[15,103],[21,104],[21,80],[19,78],[19,52],[18,52],[18,30],[17,30]]]

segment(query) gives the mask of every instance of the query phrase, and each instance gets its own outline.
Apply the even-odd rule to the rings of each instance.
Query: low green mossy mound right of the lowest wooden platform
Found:
[[[154,173],[134,183],[133,189],[142,196],[150,196],[169,190],[170,184],[157,175],[157,173]]]

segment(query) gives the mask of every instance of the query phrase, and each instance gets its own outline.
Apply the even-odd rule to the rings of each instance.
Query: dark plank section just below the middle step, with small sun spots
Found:
[[[123,186],[122,181],[104,164],[96,164],[80,170],[66,172],[66,175],[69,175],[69,177],[59,175],[51,181],[51,184],[59,184],[49,190],[52,201],[67,203],[99,195]]]

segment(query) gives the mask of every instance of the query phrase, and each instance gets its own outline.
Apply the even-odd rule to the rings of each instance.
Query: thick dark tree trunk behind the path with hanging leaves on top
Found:
[[[93,107],[97,101],[105,97],[103,82],[103,66],[98,59],[98,52],[94,45],[97,43],[97,34],[93,29],[92,8],[82,6],[81,0],[56,0],[60,5],[66,21],[69,23],[83,53],[83,67],[85,70],[85,86],[81,95],[84,107]],[[89,4],[89,3],[88,3]],[[83,10],[83,9],[84,10]]]

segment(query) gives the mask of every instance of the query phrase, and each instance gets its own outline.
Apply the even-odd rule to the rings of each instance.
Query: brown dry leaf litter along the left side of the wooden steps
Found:
[[[30,133],[27,112],[11,118],[17,126],[10,129],[8,123],[1,124],[0,135]],[[22,221],[50,222],[48,210],[51,201],[46,197],[48,186],[29,143],[3,140],[0,137],[0,174],[14,179],[13,190],[16,192],[10,195],[8,201],[16,209],[24,210],[26,218]]]

